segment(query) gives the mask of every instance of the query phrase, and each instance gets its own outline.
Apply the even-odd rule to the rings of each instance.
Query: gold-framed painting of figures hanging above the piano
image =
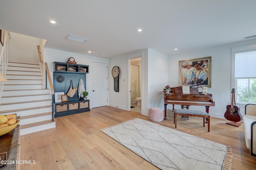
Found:
[[[179,86],[205,85],[212,87],[212,57],[179,61]]]

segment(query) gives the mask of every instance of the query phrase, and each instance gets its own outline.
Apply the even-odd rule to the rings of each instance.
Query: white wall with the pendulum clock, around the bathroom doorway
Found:
[[[110,78],[110,105],[130,110],[129,91],[130,84],[128,59],[141,57],[142,67],[142,115],[148,115],[148,109],[151,107],[160,107],[164,109],[163,92],[164,86],[168,83],[168,55],[159,53],[152,49],[143,49],[129,53],[126,56],[114,57],[110,59],[110,76],[112,67],[120,67],[119,92],[114,92],[114,80]],[[126,79],[127,81],[124,81]],[[111,89],[112,88],[112,89]]]

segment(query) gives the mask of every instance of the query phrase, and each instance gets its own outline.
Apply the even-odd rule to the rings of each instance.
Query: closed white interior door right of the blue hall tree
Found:
[[[92,62],[92,108],[108,105],[107,78],[107,64]]]

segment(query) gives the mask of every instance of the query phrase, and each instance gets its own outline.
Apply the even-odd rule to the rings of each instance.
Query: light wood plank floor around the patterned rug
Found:
[[[98,107],[55,120],[56,128],[21,136],[20,160],[35,160],[36,164],[22,164],[21,170],[86,170],[86,169],[158,169],[100,131],[134,117],[147,116],[114,107]],[[177,120],[176,130],[232,147],[232,169],[256,169],[256,157],[250,156],[244,140],[244,127],[227,125],[225,119],[211,118],[210,132],[202,127],[202,118]],[[158,124],[174,128],[173,112]],[[171,153],[170,153],[171,154]]]

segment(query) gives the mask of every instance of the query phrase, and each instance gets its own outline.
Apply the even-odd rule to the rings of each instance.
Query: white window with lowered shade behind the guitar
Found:
[[[237,103],[256,103],[256,50],[234,53]]]

